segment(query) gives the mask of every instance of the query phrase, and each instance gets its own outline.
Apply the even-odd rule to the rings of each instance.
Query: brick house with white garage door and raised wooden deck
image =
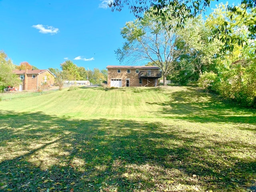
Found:
[[[155,66],[107,66],[109,87],[157,86],[162,72]]]

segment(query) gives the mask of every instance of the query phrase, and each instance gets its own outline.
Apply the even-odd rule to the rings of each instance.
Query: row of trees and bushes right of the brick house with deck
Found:
[[[188,13],[182,27],[172,13],[173,6],[161,14],[149,8],[142,18],[127,22],[121,29],[125,42],[115,52],[118,60],[158,66],[164,85],[167,79],[199,82],[206,91],[256,107],[256,47],[248,27],[255,24],[256,9],[241,6],[230,12],[228,4],[220,4],[206,19]],[[223,23],[232,37],[222,32],[215,38]]]

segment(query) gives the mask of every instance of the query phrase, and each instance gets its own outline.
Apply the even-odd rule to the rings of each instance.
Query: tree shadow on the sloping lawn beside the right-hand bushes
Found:
[[[190,122],[214,122],[256,125],[256,110],[241,108],[232,103],[202,92],[198,88],[187,88],[172,92],[170,101],[148,103],[162,106],[156,115],[164,118],[177,118]],[[171,114],[171,116],[168,116]],[[176,116],[175,116],[176,115]],[[244,128],[246,129],[246,128]],[[254,128],[248,128],[254,130]]]

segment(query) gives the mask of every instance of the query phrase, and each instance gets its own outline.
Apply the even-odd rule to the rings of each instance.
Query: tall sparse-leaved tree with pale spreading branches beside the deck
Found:
[[[166,9],[166,18],[169,12]],[[182,30],[177,26],[175,18],[161,22],[162,17],[156,16],[154,10],[147,12],[141,20],[130,21],[121,29],[126,40],[123,47],[116,51],[120,62],[143,61],[152,62],[162,70],[163,82],[171,74],[179,62],[175,60],[189,50],[177,49],[180,44]],[[172,27],[170,27],[172,26]]]

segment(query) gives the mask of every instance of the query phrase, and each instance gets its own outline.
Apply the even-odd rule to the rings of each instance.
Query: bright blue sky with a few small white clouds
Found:
[[[39,69],[60,68],[67,59],[91,70],[120,65],[114,54],[124,42],[120,29],[135,17],[127,8],[111,12],[107,2],[0,0],[0,50],[16,65]]]

